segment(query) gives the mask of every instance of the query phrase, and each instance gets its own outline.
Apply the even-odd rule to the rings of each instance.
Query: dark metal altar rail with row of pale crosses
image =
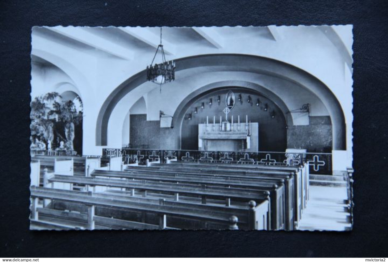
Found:
[[[104,148],[103,157],[123,157],[125,164],[138,161],[145,164],[160,160],[237,163],[255,165],[298,166],[308,163],[310,174],[332,174],[331,153],[292,153],[292,152],[243,152],[243,151],[198,151],[198,150],[164,150],[164,149],[134,149],[134,148]]]

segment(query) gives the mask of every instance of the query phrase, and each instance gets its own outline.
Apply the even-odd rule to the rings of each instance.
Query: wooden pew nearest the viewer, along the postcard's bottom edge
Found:
[[[176,225],[181,223],[181,228],[184,229],[238,229],[238,227],[242,229],[261,229],[262,225],[265,226],[265,216],[268,213],[268,209],[266,209],[268,207],[267,200],[263,200],[259,205],[256,205],[254,201],[250,201],[249,208],[243,209],[187,204],[165,201],[164,199],[128,197],[127,194],[120,196],[31,187],[31,202],[35,203],[37,198],[52,199],[51,206],[54,208],[37,208],[32,205],[32,219],[39,221],[40,216],[59,219],[60,221],[61,219],[67,218],[69,220],[69,218],[73,218],[78,220],[78,223],[87,222],[88,229],[101,228],[101,226],[102,228],[111,228],[112,224],[116,228],[136,228],[136,225],[140,226],[144,223],[146,226],[155,226],[156,219],[158,220],[159,229],[168,228],[170,223]],[[62,208],[62,210],[57,208]],[[69,210],[76,212],[71,213]],[[123,219],[133,216],[135,213],[142,214],[141,219],[144,221]],[[116,217],[113,218],[112,214]],[[192,228],[187,228],[190,225],[192,225]]]

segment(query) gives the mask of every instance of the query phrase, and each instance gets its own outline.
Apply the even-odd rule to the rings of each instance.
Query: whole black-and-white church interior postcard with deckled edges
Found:
[[[352,44],[33,27],[30,230],[352,230]]]

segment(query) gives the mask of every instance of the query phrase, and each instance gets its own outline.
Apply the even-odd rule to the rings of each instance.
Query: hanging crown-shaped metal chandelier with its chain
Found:
[[[154,60],[158,51],[160,49],[162,63],[154,64]],[[154,64],[154,65],[153,65]],[[162,44],[162,28],[160,28],[160,44],[156,48],[154,58],[152,59],[151,65],[147,66],[147,81],[154,82],[161,86],[166,82],[171,82],[175,80],[175,62],[173,60],[167,61],[165,56],[165,51],[163,50]]]

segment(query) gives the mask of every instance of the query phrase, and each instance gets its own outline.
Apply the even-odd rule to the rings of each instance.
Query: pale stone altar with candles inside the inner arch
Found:
[[[237,123],[222,121],[209,123],[208,118],[204,124],[198,125],[198,150],[203,151],[246,151],[256,152],[259,149],[258,123]]]

